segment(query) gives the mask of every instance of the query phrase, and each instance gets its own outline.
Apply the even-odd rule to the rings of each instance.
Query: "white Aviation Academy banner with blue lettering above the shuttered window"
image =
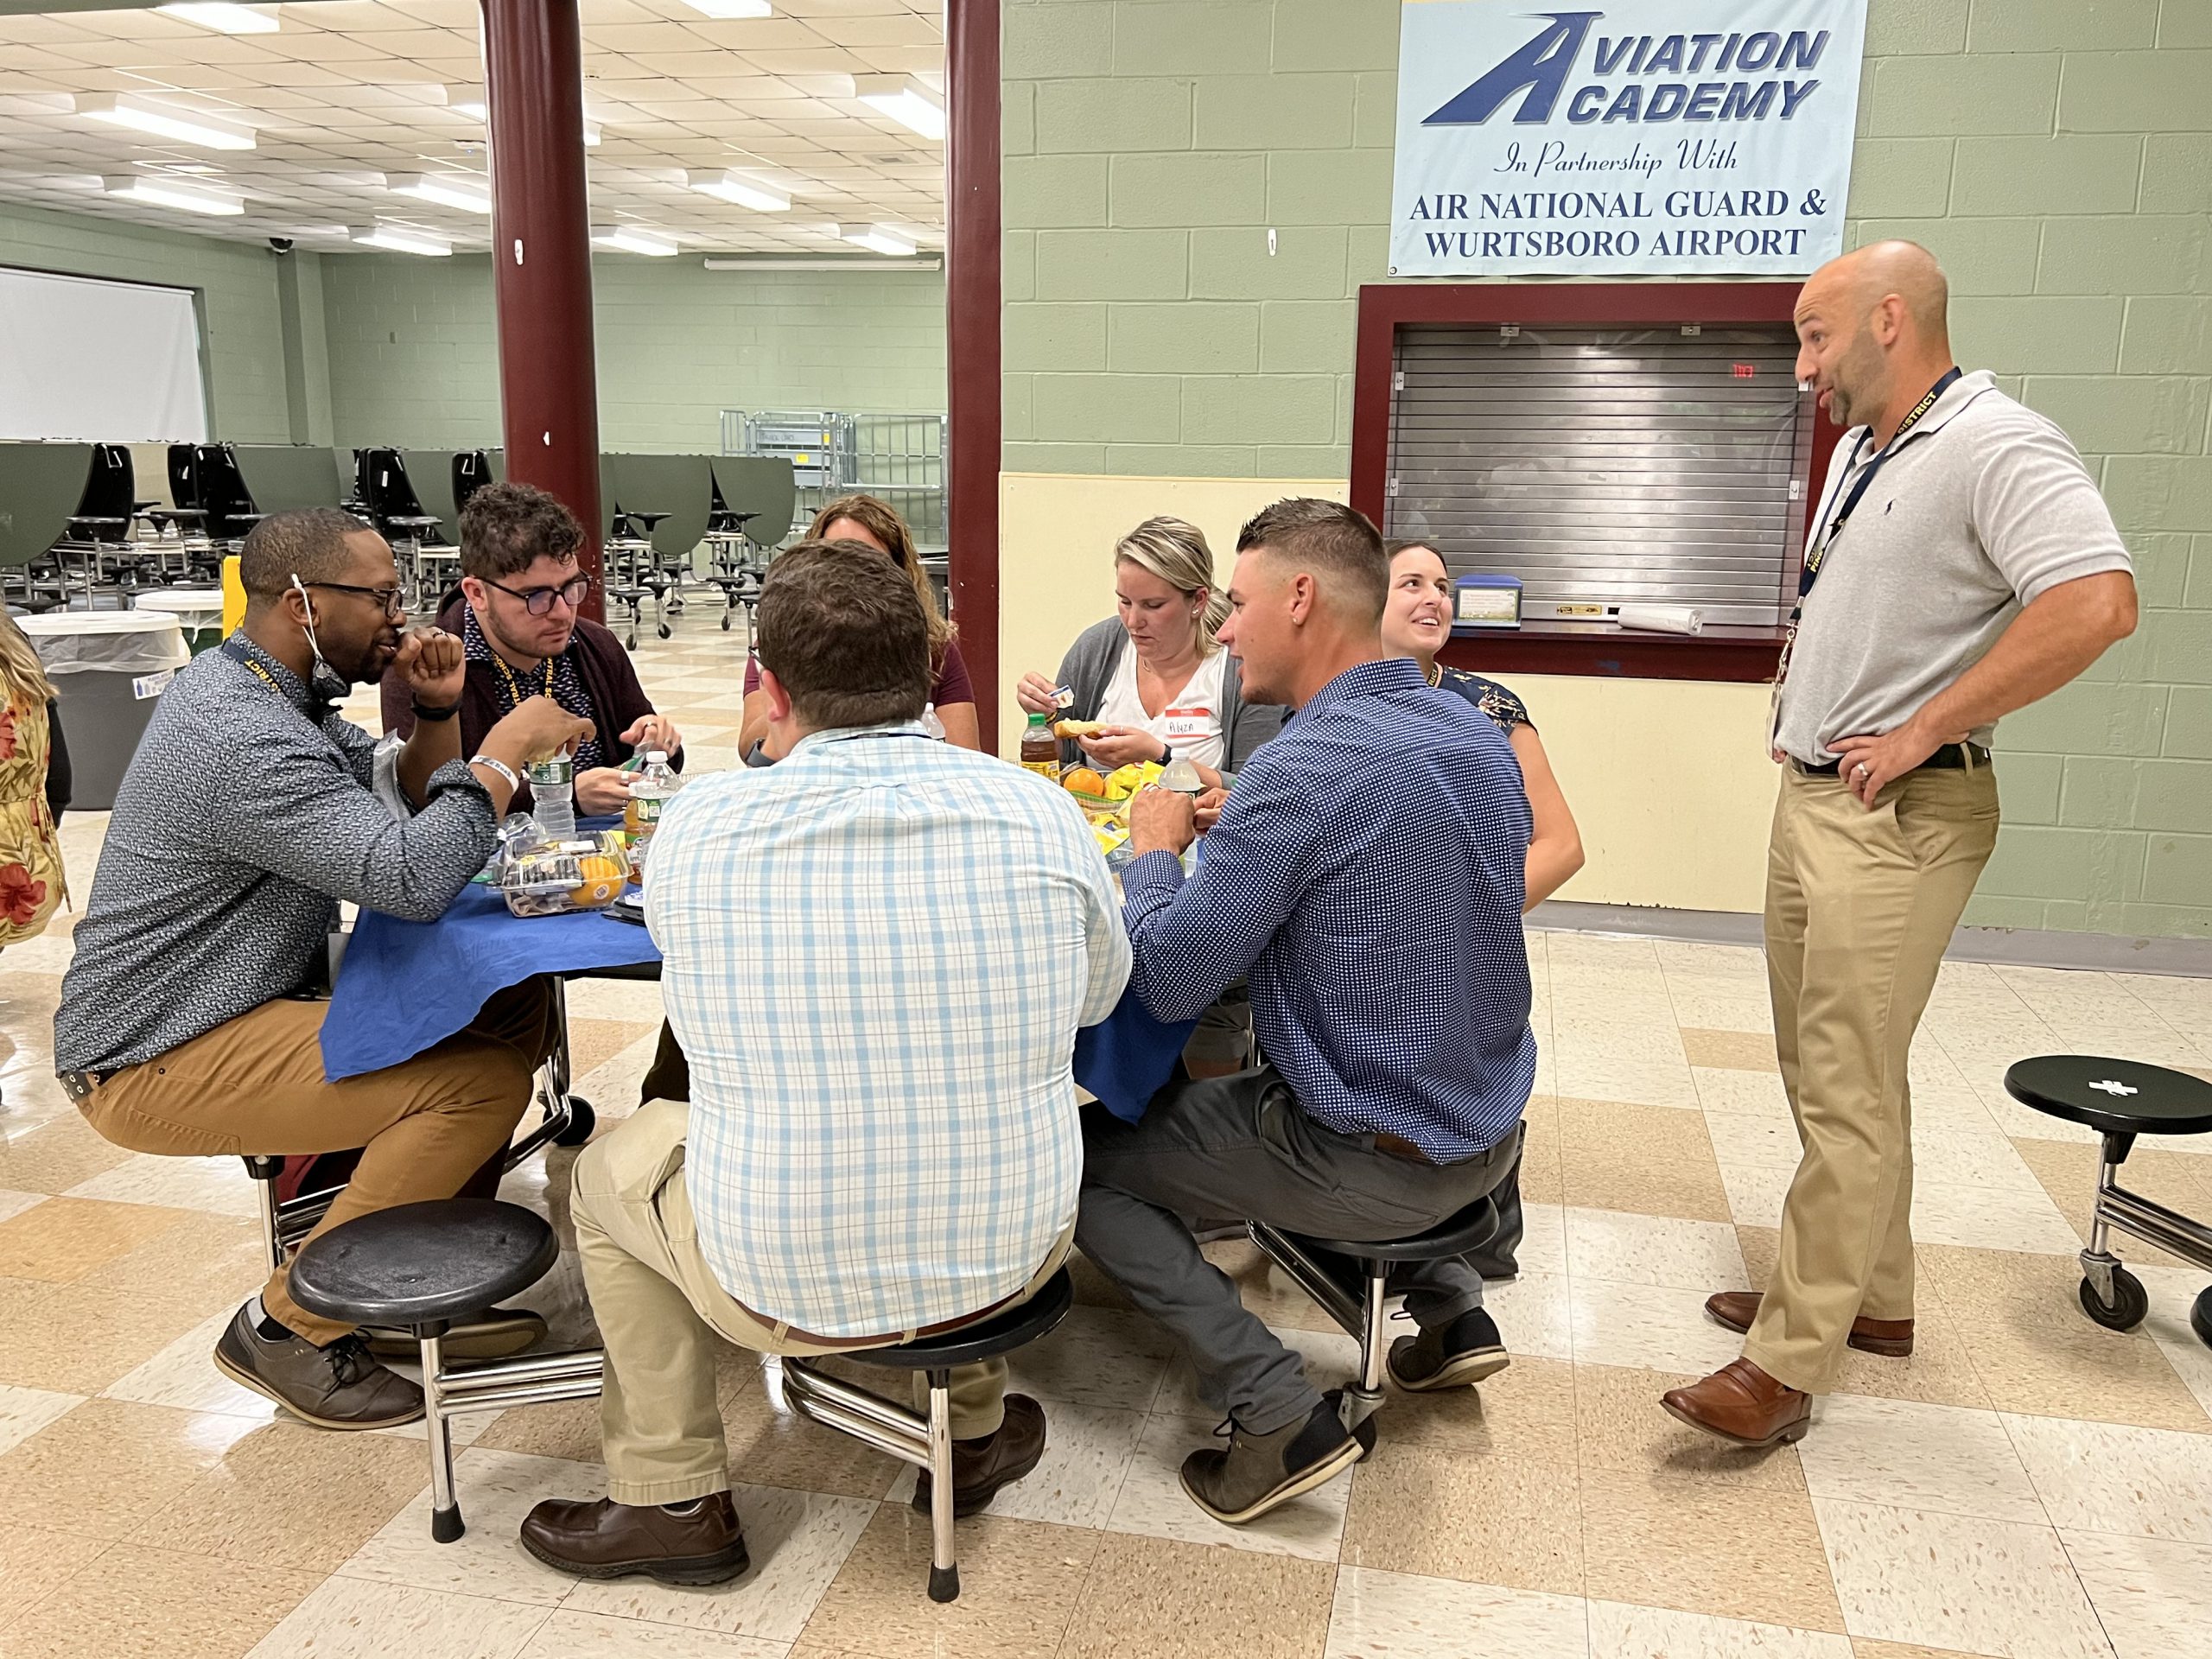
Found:
[[[1867,0],[1407,0],[1391,274],[1807,274],[1865,33]]]

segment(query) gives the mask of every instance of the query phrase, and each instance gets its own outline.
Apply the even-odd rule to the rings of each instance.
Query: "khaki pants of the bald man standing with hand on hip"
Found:
[[[1913,1316],[1907,1055],[1995,843],[1986,765],[1909,772],[1871,812],[1840,779],[1783,765],[1767,847],[1767,987],[1805,1150],[1743,1354],[1787,1387],[1834,1387],[1854,1318]]]

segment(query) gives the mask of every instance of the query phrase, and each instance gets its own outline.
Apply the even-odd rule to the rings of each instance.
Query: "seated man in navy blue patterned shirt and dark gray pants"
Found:
[[[1422,1232],[1513,1168],[1535,1084],[1520,768],[1482,710],[1385,653],[1387,575],[1383,538],[1338,502],[1276,502],[1245,524],[1221,641],[1250,701],[1298,717],[1237,776],[1190,880],[1190,801],[1148,790],[1130,810],[1130,987],[1190,1020],[1250,973],[1267,1064],[1170,1086],[1139,1124],[1091,1113],[1075,1241],[1181,1338],[1228,1411],[1228,1451],[1194,1451],[1183,1491],[1232,1526],[1349,1469],[1363,1440],[1179,1217]],[[1464,1259],[1394,1285],[1420,1325],[1391,1345],[1398,1387],[1506,1365]]]

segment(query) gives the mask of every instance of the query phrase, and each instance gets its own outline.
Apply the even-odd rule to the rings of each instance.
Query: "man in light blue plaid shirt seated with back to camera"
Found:
[[[1128,980],[1082,810],[922,732],[922,611],[887,557],[779,557],[759,655],[779,763],[688,783],[648,860],[690,1106],[648,1102],[575,1166],[608,1498],[540,1504],[522,1542],[586,1577],[743,1571],[710,1334],[883,1347],[1060,1267],[1075,1031]],[[1004,1385],[1004,1360],[953,1371],[956,1513],[1044,1453],[1044,1411]]]

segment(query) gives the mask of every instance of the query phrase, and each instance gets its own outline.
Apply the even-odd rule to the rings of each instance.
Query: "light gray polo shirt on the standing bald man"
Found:
[[[1814,531],[1874,462],[1865,427],[1843,434]],[[1858,465],[1851,451],[1858,451]],[[1840,737],[1889,732],[1997,644],[2024,604],[2059,582],[2126,571],[2112,513],[2051,420],[1955,380],[1860,495],[1805,597],[1776,748],[1823,765]],[[1989,743],[1995,726],[1973,741]]]

